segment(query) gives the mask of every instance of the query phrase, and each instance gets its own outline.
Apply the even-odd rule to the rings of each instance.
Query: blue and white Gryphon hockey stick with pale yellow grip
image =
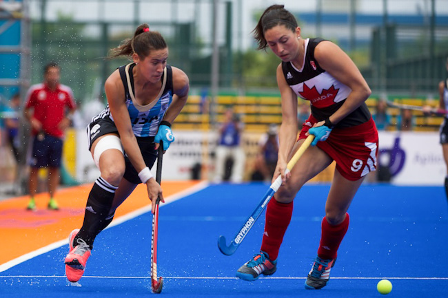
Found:
[[[309,135],[306,138],[306,140],[305,140],[305,142],[303,142],[302,146],[297,150],[297,152],[294,154],[294,156],[292,156],[292,159],[289,160],[289,162],[287,164],[286,173],[289,173],[289,171],[291,171],[291,169],[296,164],[297,160],[299,158],[301,158],[301,156],[303,155],[303,152],[305,152],[305,150],[309,147],[309,145],[311,144],[311,142],[313,140],[314,140],[313,135]],[[243,226],[240,228],[238,233],[236,233],[234,240],[232,240],[230,242],[229,246],[227,246],[227,242],[225,242],[225,237],[223,235],[219,236],[218,248],[221,251],[221,253],[223,253],[224,255],[233,255],[233,253],[236,251],[236,248],[238,248],[238,246],[240,246],[241,242],[243,242],[243,240],[244,240],[244,237],[246,237],[247,233],[249,233],[252,226],[254,226],[254,223],[256,222],[258,217],[260,217],[261,213],[265,209],[265,206],[267,205],[269,200],[271,200],[274,193],[276,193],[276,191],[278,191],[278,189],[281,187],[281,184],[282,184],[281,176],[278,176],[276,178],[276,180],[274,181],[274,183],[272,183],[271,186],[269,187],[269,189],[266,191],[265,195],[263,195],[263,200],[261,200],[261,202],[258,204],[258,206],[256,206],[254,212],[252,212],[252,214],[250,215],[249,218],[247,218],[247,220],[245,221]]]

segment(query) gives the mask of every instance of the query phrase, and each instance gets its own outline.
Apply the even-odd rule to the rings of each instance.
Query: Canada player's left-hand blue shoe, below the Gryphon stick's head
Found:
[[[277,260],[271,261],[269,255],[264,251],[254,255],[249,262],[246,262],[236,271],[236,277],[244,280],[253,281],[258,279],[258,276],[272,275],[277,270]]]

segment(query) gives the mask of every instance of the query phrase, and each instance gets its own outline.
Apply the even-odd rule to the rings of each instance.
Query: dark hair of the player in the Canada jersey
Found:
[[[266,49],[265,32],[268,29],[274,28],[276,25],[284,25],[292,32],[296,32],[298,26],[296,18],[291,12],[285,10],[285,6],[279,4],[269,6],[261,15],[254,30],[252,30],[254,32],[254,38],[258,43],[258,50]]]

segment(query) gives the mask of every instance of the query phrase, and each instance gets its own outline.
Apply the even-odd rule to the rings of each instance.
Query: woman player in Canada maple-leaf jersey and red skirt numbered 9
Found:
[[[305,288],[323,288],[349,226],[350,202],[365,175],[376,168],[378,131],[365,100],[369,86],[353,61],[336,44],[323,39],[302,39],[301,28],[284,6],[265,10],[254,29],[258,48],[269,47],[281,58],[277,84],[283,120],[279,131],[278,162],[272,181],[283,184],[266,210],[261,251],[238,269],[236,276],[254,280],[276,271],[278,250],[292,217],[293,200],[303,184],[336,161],[332,187],[325,204],[317,257]],[[311,115],[297,140],[297,97],[309,100]],[[289,158],[306,136],[312,146],[285,174]]]

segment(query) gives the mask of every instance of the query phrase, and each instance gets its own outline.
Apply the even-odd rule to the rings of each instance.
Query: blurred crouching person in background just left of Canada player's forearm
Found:
[[[270,181],[274,175],[278,159],[278,134],[277,125],[269,125],[267,132],[261,136],[258,142],[258,153],[254,163],[252,180]]]

